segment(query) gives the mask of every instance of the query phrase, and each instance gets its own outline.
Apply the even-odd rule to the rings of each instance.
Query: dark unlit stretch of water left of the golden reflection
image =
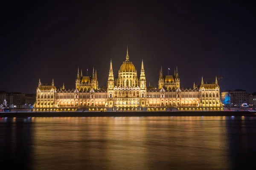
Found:
[[[4,123],[3,123],[4,122]],[[0,119],[1,167],[32,169],[32,124],[28,119]]]

